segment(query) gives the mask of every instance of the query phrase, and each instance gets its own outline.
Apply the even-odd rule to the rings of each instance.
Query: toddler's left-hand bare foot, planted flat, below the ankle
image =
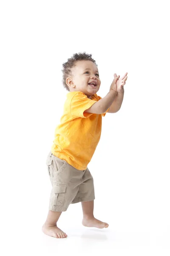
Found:
[[[42,232],[48,236],[53,236],[56,238],[66,238],[67,237],[65,232],[60,230],[57,226],[50,226],[50,225],[44,224],[42,226]]]

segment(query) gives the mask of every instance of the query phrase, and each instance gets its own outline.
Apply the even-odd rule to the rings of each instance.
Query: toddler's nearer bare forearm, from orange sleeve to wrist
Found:
[[[92,105],[91,108],[85,110],[85,112],[94,114],[105,113],[105,111],[107,111],[108,108],[110,108],[110,106],[112,105],[114,99],[116,99],[116,94],[117,92],[115,90],[110,90],[104,98],[94,103],[94,105]]]

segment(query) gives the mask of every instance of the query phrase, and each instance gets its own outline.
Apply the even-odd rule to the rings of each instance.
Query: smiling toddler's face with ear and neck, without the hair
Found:
[[[71,92],[81,91],[91,99],[98,92],[101,81],[99,71],[92,61],[77,61],[72,68],[72,75],[66,79],[66,84]]]

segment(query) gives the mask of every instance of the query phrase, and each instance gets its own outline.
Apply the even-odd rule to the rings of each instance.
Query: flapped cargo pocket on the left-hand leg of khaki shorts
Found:
[[[55,194],[55,198],[53,204],[56,206],[62,206],[65,199],[65,191],[67,185],[53,183],[53,192]]]

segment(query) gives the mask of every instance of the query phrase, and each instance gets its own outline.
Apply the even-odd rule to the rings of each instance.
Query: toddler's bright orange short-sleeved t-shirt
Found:
[[[78,170],[87,169],[99,143],[103,114],[84,113],[102,99],[97,94],[91,99],[80,92],[70,92],[64,104],[64,113],[55,130],[51,152]]]

